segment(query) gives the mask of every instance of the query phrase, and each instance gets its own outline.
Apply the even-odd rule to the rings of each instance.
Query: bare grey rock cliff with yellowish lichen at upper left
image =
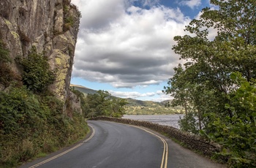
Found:
[[[63,101],[69,93],[80,21],[80,12],[70,1],[0,1],[0,39],[11,58],[26,57],[33,45],[38,53],[45,52],[57,75],[50,89]],[[15,63],[12,67],[19,73]]]

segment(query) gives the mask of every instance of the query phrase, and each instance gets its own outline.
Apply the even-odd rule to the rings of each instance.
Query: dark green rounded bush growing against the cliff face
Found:
[[[27,58],[18,58],[18,62],[23,66],[23,84],[34,91],[34,93],[45,93],[48,86],[55,80],[54,73],[50,70],[48,58],[37,53],[35,47],[31,48]]]

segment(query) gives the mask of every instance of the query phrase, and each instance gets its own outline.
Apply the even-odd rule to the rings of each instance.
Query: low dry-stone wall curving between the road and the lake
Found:
[[[214,155],[214,153],[218,153],[222,150],[221,146],[214,142],[210,142],[203,137],[195,134],[184,133],[179,129],[173,128],[172,126],[162,126],[157,123],[150,123],[148,121],[135,121],[124,118],[97,117],[91,118],[91,120],[113,121],[117,123],[126,123],[135,126],[143,126],[148,129],[165,134],[170,138],[174,138],[175,140],[178,140],[179,142],[182,142],[184,145],[186,145],[187,148],[197,150],[204,156],[211,157]]]

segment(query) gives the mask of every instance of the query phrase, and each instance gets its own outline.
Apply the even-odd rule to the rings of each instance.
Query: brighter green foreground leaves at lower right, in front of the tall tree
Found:
[[[216,113],[208,114],[213,118],[209,127],[216,130],[208,134],[224,146],[222,156],[228,156],[229,164],[236,167],[256,166],[256,85],[249,83],[241,74],[232,74],[240,87],[230,93],[230,104],[225,104],[225,109],[233,113],[233,117],[221,118]]]

